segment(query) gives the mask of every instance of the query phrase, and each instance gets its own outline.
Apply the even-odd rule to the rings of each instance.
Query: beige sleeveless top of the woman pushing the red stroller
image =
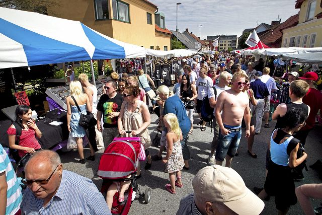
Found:
[[[139,112],[142,103],[142,101],[138,100],[135,110],[133,112],[129,112],[127,109],[128,102],[125,102],[122,119],[124,130],[137,130],[142,126],[144,119],[142,113]],[[126,137],[132,136],[130,133],[126,133],[125,135]],[[137,136],[140,137],[145,150],[151,146],[151,138],[147,128],[141,131],[141,133],[138,133]]]

